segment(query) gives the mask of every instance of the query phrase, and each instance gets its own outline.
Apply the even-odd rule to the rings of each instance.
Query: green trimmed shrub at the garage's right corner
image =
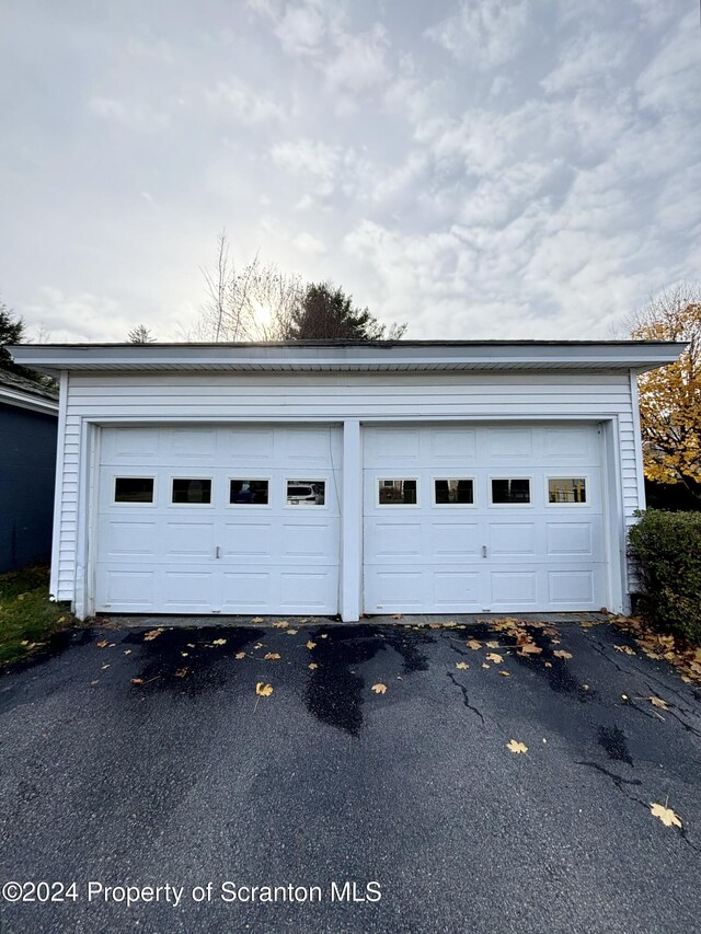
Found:
[[[701,512],[647,509],[630,531],[640,609],[701,645]]]

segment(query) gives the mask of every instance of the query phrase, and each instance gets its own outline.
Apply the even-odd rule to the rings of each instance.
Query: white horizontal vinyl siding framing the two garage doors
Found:
[[[625,520],[639,506],[633,403],[628,372],[566,373],[83,373],[68,381],[59,600],[74,599],[82,419],[96,423],[617,418]]]

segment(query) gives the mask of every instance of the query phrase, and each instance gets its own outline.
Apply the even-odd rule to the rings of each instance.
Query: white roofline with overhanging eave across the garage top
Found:
[[[460,371],[646,370],[675,362],[670,341],[376,341],[239,344],[42,344],[9,347],[18,364],[61,370]]]

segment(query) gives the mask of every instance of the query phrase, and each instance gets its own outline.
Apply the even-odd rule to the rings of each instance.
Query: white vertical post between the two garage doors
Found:
[[[363,454],[360,422],[343,423],[343,496],[341,503],[341,619],[360,619],[363,592]]]

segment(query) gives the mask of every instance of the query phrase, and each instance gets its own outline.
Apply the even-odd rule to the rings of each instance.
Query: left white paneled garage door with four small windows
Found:
[[[96,610],[336,613],[341,431],[104,428]]]

